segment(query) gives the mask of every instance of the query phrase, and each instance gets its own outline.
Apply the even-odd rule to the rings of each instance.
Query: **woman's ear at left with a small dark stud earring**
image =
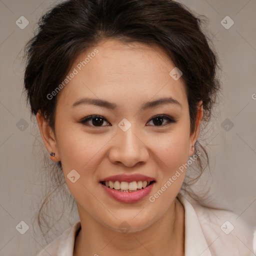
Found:
[[[48,152],[55,153],[54,156],[49,154],[49,157],[53,161],[60,161],[56,138],[52,128],[48,125],[48,121],[40,111],[36,113],[36,120],[45,147],[47,148]]]

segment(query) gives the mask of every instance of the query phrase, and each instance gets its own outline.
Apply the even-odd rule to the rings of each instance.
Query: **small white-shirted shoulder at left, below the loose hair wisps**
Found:
[[[80,220],[68,227],[61,235],[46,245],[36,256],[72,256],[73,246]]]

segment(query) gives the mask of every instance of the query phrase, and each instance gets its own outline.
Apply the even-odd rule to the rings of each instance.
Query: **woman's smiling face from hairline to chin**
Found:
[[[117,40],[103,41],[73,63],[68,74],[76,74],[57,95],[55,132],[47,128],[47,137],[40,130],[48,151],[55,152],[52,159],[61,160],[80,218],[88,215],[116,230],[126,221],[137,231],[173,204],[185,176],[181,166],[198,135],[190,133],[182,76],[169,75],[174,67],[156,45]],[[103,181],[109,180],[123,182],[115,182],[117,189],[118,183],[126,189],[134,180],[138,187],[139,180],[151,182],[126,192],[107,188]]]

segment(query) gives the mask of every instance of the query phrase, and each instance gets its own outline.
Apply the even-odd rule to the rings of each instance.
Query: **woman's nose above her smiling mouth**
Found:
[[[108,158],[113,164],[132,167],[145,163],[149,158],[146,141],[142,140],[138,132],[133,132],[132,126],[126,131],[118,130],[111,142]]]

